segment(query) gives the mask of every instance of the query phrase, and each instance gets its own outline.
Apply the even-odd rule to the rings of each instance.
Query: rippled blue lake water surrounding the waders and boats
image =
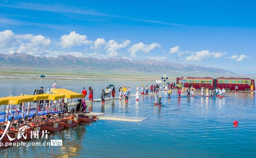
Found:
[[[51,80],[0,79],[0,96],[32,94],[34,89],[51,87]],[[116,88],[150,84],[145,81],[57,80],[57,87],[80,92],[92,86],[94,94],[108,84]],[[99,98],[100,93],[96,94]],[[142,122],[98,120],[49,135],[49,142],[62,139],[63,146],[11,147],[1,150],[6,157],[255,157],[256,97],[253,93],[228,92],[226,97],[206,98],[186,94],[178,99],[161,94],[162,107],[154,106],[153,95],[88,104],[89,110],[108,115],[146,117]],[[233,121],[239,122],[233,126]]]

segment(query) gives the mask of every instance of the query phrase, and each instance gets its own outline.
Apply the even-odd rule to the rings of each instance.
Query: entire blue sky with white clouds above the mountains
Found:
[[[0,0],[0,53],[154,59],[256,74],[253,0]]]

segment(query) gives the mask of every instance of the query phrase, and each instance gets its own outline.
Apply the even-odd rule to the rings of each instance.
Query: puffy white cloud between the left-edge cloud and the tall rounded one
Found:
[[[50,39],[46,39],[42,35],[34,36],[29,43],[22,43],[17,49],[18,53],[28,53],[31,55],[38,55],[38,51],[44,51],[46,47],[51,44]]]

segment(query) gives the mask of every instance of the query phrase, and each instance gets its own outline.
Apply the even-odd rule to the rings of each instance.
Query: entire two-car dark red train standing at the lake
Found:
[[[254,79],[249,78],[228,78],[228,77],[180,77],[177,78],[177,83],[184,83],[184,87],[189,87],[189,83],[193,88],[201,89],[202,87],[208,89],[224,88],[229,91],[235,91],[238,87],[239,91],[255,91]]]

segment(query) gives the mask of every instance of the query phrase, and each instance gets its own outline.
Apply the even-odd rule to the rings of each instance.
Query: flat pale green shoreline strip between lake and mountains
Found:
[[[125,71],[19,71],[19,70],[0,70],[0,79],[40,79],[38,75],[47,75],[44,79],[92,79],[92,80],[161,80],[163,73],[147,73],[147,72],[125,72]],[[2,75],[2,76],[1,76]],[[6,76],[4,76],[6,75]],[[24,77],[23,77],[24,76]],[[238,77],[256,79],[256,75],[240,75],[240,74],[217,74],[210,72],[177,72],[173,71],[172,74],[167,73],[168,80],[175,81],[177,77],[190,76],[190,77]]]

